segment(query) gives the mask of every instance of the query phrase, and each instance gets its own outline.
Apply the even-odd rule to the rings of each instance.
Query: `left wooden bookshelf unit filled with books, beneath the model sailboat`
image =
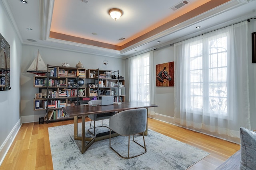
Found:
[[[62,107],[78,105],[80,100],[86,98],[86,69],[49,64],[47,68],[46,76],[34,76],[33,86],[41,94],[40,98],[34,98],[34,110],[46,111],[46,123],[70,119]],[[50,117],[46,119],[49,113]]]

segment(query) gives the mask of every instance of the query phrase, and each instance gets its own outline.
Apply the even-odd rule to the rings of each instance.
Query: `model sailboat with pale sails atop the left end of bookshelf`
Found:
[[[44,76],[47,73],[47,67],[39,54],[39,50],[37,53],[37,57],[34,59],[32,64],[29,66],[27,72],[36,74],[38,76]]]

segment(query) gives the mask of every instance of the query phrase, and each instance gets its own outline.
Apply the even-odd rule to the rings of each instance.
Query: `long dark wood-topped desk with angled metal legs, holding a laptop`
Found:
[[[82,106],[72,106],[72,107],[63,107],[64,111],[70,116],[74,117],[74,139],[82,141],[82,150],[81,152],[84,153],[92,143],[96,141],[100,141],[103,139],[108,139],[109,135],[105,135],[102,137],[95,137],[89,138],[85,137],[85,117],[90,114],[97,114],[97,113],[108,113],[114,111],[123,111],[128,109],[138,109],[138,108],[146,108],[148,107],[157,107],[158,105],[155,104],[147,104],[143,102],[122,102],[122,104],[114,104],[108,106],[89,106],[89,105],[82,105]],[[78,117],[82,117],[82,136],[78,136]],[[148,134],[148,121],[147,121],[147,128],[144,132],[145,135]],[[114,133],[111,137],[117,136],[118,134]],[[85,141],[89,141],[89,143],[85,146]]]

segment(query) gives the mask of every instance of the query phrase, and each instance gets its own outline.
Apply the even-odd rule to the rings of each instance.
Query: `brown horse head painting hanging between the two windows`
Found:
[[[174,86],[174,61],[156,65],[156,86]]]

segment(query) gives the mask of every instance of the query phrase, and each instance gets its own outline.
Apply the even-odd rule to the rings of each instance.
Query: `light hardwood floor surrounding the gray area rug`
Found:
[[[86,118],[86,120],[88,121],[89,119]],[[48,127],[70,123],[74,123],[74,121],[58,121],[48,124],[38,124],[38,122],[22,124],[20,131],[0,166],[0,170],[53,169]],[[148,118],[148,128],[210,153],[210,155],[191,166],[189,168],[190,170],[214,170],[240,149],[240,145],[238,144],[151,118]]]

